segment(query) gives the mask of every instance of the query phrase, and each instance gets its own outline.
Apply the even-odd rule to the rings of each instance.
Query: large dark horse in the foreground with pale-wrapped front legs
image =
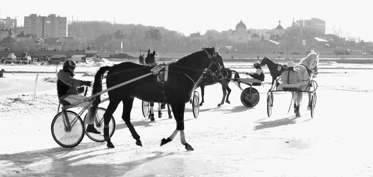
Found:
[[[228,73],[223,70],[223,60],[215,57],[220,46],[221,44],[216,48],[204,48],[201,51],[179,59],[175,63],[170,63],[168,66],[168,80],[164,83],[158,82],[158,76],[151,74],[152,71],[150,70],[153,69],[154,66],[141,65],[134,62],[122,62],[112,67],[101,67],[95,75],[92,91],[93,95],[101,90],[101,78],[103,78],[106,71],[108,71],[106,76],[106,86],[108,89],[123,84],[123,86],[120,85],[120,87],[108,91],[110,102],[103,116],[104,139],[107,142],[107,147],[114,148],[109,136],[109,122],[120,102],[123,103],[122,119],[128,126],[132,137],[136,140],[136,144],[142,146],[140,136],[135,131],[130,119],[133,101],[134,98],[137,97],[146,102],[166,102],[172,107],[172,112],[176,120],[176,129],[169,138],[162,139],[161,146],[172,141],[180,131],[181,143],[185,146],[185,149],[188,151],[194,150],[192,146],[186,142],[184,135],[185,103],[189,102],[194,85],[206,68],[211,73],[219,74],[219,78],[225,78],[228,75]],[[147,58],[148,57],[154,57],[154,55],[148,55]],[[99,95],[100,94],[97,96],[97,100],[99,100]],[[97,106],[98,104],[91,108],[88,113],[89,119],[94,118]]]

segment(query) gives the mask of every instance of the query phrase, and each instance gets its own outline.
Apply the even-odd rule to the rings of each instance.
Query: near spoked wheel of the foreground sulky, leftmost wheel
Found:
[[[78,116],[75,120],[76,113],[70,110],[62,112],[54,116],[51,125],[51,132],[54,141],[62,147],[72,148],[78,145],[84,138],[83,121]],[[64,119],[65,117],[66,119]],[[70,126],[68,126],[70,124]]]

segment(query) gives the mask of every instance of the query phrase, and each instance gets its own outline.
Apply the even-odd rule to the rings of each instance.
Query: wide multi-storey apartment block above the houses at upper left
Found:
[[[68,36],[67,17],[60,17],[56,14],[38,16],[31,14],[25,17],[24,32],[35,34],[38,38],[63,38]]]

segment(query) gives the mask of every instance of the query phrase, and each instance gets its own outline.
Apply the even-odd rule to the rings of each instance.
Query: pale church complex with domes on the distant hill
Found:
[[[274,29],[247,29],[244,22],[239,22],[236,25],[235,30],[229,30],[228,39],[234,44],[247,44],[250,41],[258,42],[263,36],[264,40],[268,40],[271,35],[282,36],[285,33],[285,29],[281,26],[281,21],[279,20],[279,25]]]

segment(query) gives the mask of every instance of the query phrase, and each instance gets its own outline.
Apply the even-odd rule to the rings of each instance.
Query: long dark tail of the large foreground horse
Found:
[[[102,90],[102,77],[103,75],[105,74],[106,71],[109,70],[109,66],[104,66],[104,67],[101,67],[95,77],[94,77],[94,83],[93,83],[93,90],[92,90],[92,95],[100,92]],[[96,100],[94,102],[94,106],[93,107],[90,107],[90,109],[88,109],[88,113],[87,113],[87,116],[88,116],[88,122],[93,122],[94,121],[94,116],[96,115],[96,111],[97,111],[97,107],[98,107],[98,104],[101,102],[100,100],[100,95],[95,97]]]

